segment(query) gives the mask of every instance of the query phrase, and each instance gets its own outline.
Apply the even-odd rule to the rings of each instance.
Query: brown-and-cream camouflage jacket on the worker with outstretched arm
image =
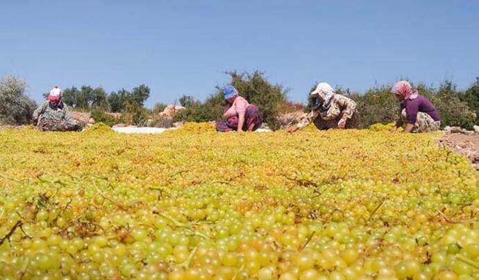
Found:
[[[321,117],[325,121],[331,121],[342,116],[346,119],[351,119],[356,112],[356,103],[351,98],[343,96],[341,94],[335,94],[330,100],[328,110],[321,111],[321,108],[309,112],[304,119],[302,119],[296,126],[298,128],[304,128],[309,125],[314,119]]]

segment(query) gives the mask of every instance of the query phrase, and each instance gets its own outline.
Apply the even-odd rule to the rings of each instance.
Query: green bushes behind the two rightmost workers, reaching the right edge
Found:
[[[400,102],[391,93],[391,87],[392,85],[379,85],[364,93],[339,88],[337,93],[355,100],[358,104],[360,127],[367,128],[374,123],[392,123],[398,119]],[[441,116],[442,127],[451,125],[471,129],[474,124],[479,123],[479,81],[466,91],[458,90],[451,81],[442,82],[439,87],[428,87],[424,84],[413,87],[435,105]],[[314,100],[308,94],[305,111],[310,110],[313,103]]]

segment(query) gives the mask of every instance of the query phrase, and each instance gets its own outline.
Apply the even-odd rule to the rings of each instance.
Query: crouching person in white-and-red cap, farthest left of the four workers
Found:
[[[78,131],[81,125],[67,114],[67,105],[62,101],[63,91],[55,86],[46,100],[33,112],[33,120],[40,130]]]

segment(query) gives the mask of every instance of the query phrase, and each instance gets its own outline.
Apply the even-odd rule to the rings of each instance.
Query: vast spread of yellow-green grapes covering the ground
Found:
[[[479,279],[439,134],[0,130],[2,279]]]

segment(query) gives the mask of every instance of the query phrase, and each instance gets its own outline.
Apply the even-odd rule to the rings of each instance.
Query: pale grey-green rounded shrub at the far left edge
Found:
[[[26,82],[8,76],[0,79],[0,123],[23,125],[31,123],[35,101],[25,94]]]

